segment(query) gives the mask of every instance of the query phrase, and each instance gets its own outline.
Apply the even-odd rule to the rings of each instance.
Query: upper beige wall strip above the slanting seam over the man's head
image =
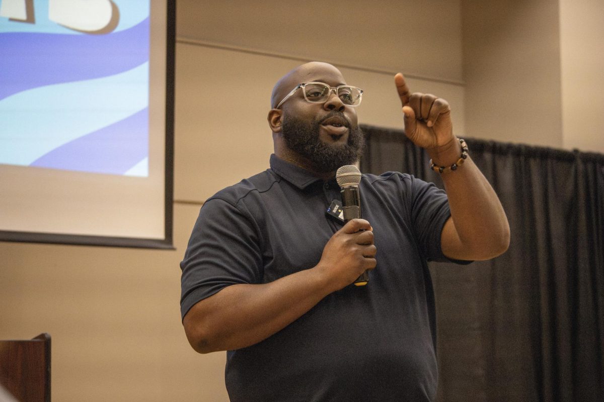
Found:
[[[461,80],[459,0],[178,0],[178,36],[294,58]]]

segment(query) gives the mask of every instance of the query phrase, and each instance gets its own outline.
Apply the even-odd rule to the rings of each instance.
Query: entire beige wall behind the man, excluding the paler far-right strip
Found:
[[[194,353],[182,331],[178,263],[203,201],[268,167],[274,81],[303,60],[330,61],[365,89],[361,122],[402,127],[392,83],[402,71],[412,89],[451,102],[458,134],[561,146],[560,121],[539,124],[561,109],[560,81],[550,82],[560,74],[557,8],[531,3],[495,13],[446,0],[179,0],[176,250],[0,243],[0,339],[51,334],[56,401],[226,401],[225,354]],[[487,34],[494,47],[481,45]]]

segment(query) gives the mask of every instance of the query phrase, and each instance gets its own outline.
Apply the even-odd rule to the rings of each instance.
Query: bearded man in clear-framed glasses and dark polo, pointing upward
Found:
[[[394,81],[405,133],[446,194],[406,174],[362,175],[365,219],[330,219],[335,171],[361,154],[362,91],[312,62],[274,87],[271,169],[202,207],[181,263],[181,312],[194,350],[228,351],[232,401],[434,400],[426,260],[498,256],[509,226],[472,160],[460,163],[448,103]],[[366,270],[368,284],[352,286]]]

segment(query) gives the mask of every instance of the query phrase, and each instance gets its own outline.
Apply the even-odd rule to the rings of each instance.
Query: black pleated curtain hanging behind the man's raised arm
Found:
[[[442,187],[402,130],[362,128],[362,172]],[[604,401],[604,155],[466,142],[512,238],[490,261],[430,265],[438,401]]]

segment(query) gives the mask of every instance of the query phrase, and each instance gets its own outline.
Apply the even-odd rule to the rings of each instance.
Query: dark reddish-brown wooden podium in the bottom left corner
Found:
[[[0,383],[21,402],[50,402],[50,335],[0,341]]]

